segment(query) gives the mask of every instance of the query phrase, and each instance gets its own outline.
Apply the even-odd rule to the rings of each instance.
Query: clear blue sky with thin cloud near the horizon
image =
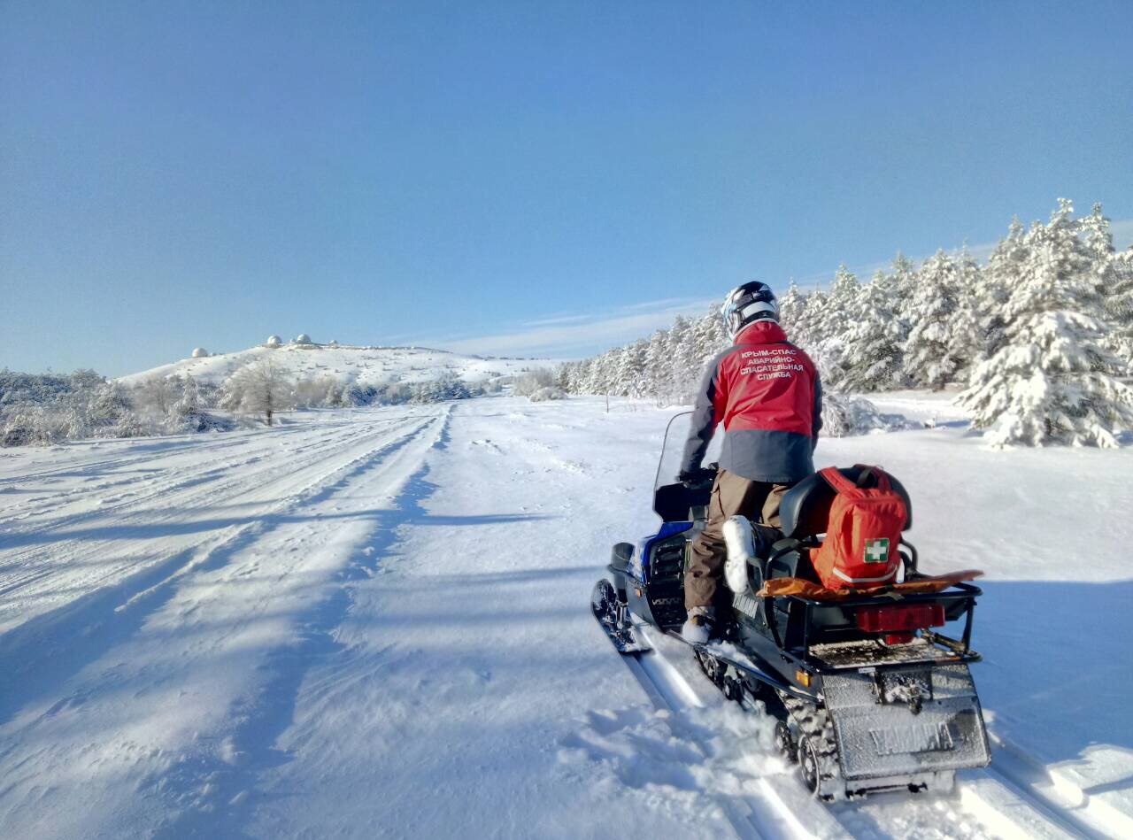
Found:
[[[1058,196],[1128,244],[1131,33],[1124,0],[0,0],[0,367],[582,355]]]

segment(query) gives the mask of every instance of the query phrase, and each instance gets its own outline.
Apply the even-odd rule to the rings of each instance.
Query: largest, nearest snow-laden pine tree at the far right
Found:
[[[1133,429],[1133,388],[1101,347],[1104,300],[1073,210],[1059,198],[1050,222],[1023,237],[1005,343],[960,397],[995,446],[1116,447],[1117,433]]]

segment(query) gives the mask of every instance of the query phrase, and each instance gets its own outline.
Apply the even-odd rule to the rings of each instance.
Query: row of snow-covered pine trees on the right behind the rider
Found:
[[[867,283],[845,266],[828,290],[793,282],[780,300],[792,342],[828,389],[960,385],[994,443],[1115,446],[1133,427],[1133,249],[1115,252],[1101,205],[1046,224],[1015,220],[985,265],[943,251],[919,266],[900,253]],[[687,402],[705,362],[727,346],[721,319],[667,330],[563,365],[568,393]]]

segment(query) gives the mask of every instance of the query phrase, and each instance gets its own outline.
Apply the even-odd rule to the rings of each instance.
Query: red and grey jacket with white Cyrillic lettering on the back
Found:
[[[813,472],[821,429],[815,363],[773,321],[757,321],[708,365],[697,394],[682,469],[704,458],[724,424],[721,467],[751,481],[790,483]]]

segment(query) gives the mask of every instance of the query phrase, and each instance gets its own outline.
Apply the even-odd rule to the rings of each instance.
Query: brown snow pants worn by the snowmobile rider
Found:
[[[727,546],[724,543],[724,523],[731,516],[757,519],[764,525],[778,527],[778,509],[783,494],[793,484],[770,484],[743,478],[726,469],[716,474],[712,499],[708,502],[708,524],[692,541],[692,560],[684,572],[684,606],[712,606],[716,585],[724,572]]]

